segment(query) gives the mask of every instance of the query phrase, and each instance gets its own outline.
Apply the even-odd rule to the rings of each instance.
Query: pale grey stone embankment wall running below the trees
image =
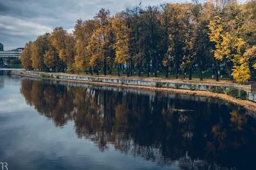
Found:
[[[15,74],[25,74],[30,76],[40,77],[42,73],[35,73],[29,71],[12,71]],[[231,86],[214,86],[214,85],[195,85],[186,83],[174,83],[166,82],[164,80],[138,80],[136,78],[102,78],[102,77],[90,77],[90,76],[72,76],[70,74],[49,74],[52,78],[63,79],[63,80],[76,80],[76,81],[93,81],[101,83],[118,83],[124,85],[141,85],[141,86],[151,86],[151,87],[167,87],[172,89],[187,89],[187,90],[204,90],[210,91],[212,89],[221,88],[227,91],[232,88]],[[249,101],[256,103],[256,93],[247,92],[247,97]]]

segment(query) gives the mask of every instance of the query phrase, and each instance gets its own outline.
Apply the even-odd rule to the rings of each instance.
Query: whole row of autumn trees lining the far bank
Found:
[[[127,9],[111,17],[100,10],[92,20],[77,20],[73,34],[56,27],[26,43],[20,55],[24,69],[85,71],[127,76],[153,71],[198,71],[200,80],[220,68],[230,80],[246,81],[256,68],[256,1],[246,4],[161,4]]]

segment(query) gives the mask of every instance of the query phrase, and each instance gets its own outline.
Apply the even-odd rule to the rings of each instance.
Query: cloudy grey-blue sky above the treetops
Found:
[[[166,0],[184,3],[190,0]],[[143,0],[143,7],[163,3],[163,0]],[[90,19],[101,8],[111,15],[136,6],[140,0],[0,0],[0,43],[4,50],[24,47],[28,41],[51,32],[54,27],[74,30],[76,20]]]

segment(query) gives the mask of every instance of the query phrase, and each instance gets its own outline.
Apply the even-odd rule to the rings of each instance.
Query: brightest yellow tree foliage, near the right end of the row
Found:
[[[216,16],[209,24],[209,38],[215,43],[214,57],[225,62],[230,80],[234,76],[239,82],[246,81],[250,78],[250,69],[247,69],[248,64],[243,55],[248,45],[243,38],[239,38],[239,29],[225,31],[223,23],[223,19]],[[239,24],[237,25],[239,27]],[[239,74],[239,69],[243,69],[243,73]],[[243,75],[243,78],[240,75]]]

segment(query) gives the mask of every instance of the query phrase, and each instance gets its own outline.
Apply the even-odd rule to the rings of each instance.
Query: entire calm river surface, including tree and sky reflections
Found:
[[[0,74],[9,170],[255,169],[255,113],[234,104]]]

